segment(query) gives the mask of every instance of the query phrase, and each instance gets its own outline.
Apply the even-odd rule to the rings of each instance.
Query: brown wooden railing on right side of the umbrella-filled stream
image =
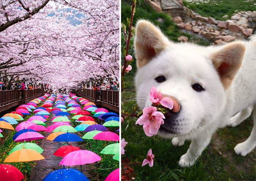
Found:
[[[78,96],[89,99],[96,105],[102,105],[119,112],[119,91],[76,89],[72,92]]]

